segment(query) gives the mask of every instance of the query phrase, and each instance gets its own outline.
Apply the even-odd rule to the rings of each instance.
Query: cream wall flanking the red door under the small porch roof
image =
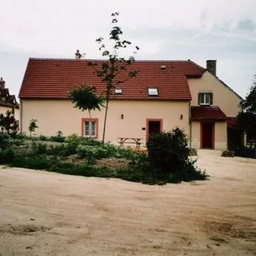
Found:
[[[201,143],[201,123],[192,122],[191,127],[191,147],[200,148]],[[215,122],[214,126],[214,149],[217,150],[226,150],[228,147],[227,144],[227,122]]]

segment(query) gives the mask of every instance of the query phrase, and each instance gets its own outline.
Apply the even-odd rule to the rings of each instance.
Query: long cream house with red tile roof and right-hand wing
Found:
[[[92,62],[100,65],[102,60]],[[152,132],[180,127],[190,147],[226,149],[228,120],[238,114],[241,97],[216,76],[215,60],[206,66],[191,60],[136,60],[129,68],[138,76],[112,90],[105,141],[141,138],[144,144]],[[92,112],[89,118],[68,99],[69,90],[81,84],[104,91],[94,72],[79,57],[29,59],[19,93],[21,131],[28,133],[29,121],[35,118],[37,134],[63,131],[101,139],[104,111]]]

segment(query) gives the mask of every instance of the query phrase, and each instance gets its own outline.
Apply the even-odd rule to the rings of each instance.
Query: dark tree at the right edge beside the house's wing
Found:
[[[256,76],[255,76],[256,78]],[[254,139],[256,138],[256,80],[250,92],[241,101],[241,112],[238,114],[238,126]]]

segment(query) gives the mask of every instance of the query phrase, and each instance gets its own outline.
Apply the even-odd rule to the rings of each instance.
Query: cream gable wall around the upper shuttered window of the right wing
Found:
[[[212,105],[218,105],[225,115],[228,117],[235,117],[240,111],[239,103],[241,102],[241,99],[208,71],[203,73],[202,78],[189,79],[189,84],[192,95],[191,105],[198,105],[199,92],[212,92]]]

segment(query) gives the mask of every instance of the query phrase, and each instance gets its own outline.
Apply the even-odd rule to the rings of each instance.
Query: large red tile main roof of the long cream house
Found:
[[[104,84],[96,77],[88,60],[35,59],[28,60],[27,70],[21,85],[21,99],[67,99],[73,86],[88,84],[103,92]],[[92,60],[100,65],[102,60]],[[166,66],[162,70],[160,66]],[[129,66],[138,76],[121,83],[121,95],[112,99],[150,99],[147,87],[157,87],[159,96],[154,99],[190,100],[187,77],[200,77],[206,71],[193,61],[136,60]],[[120,78],[127,78],[127,76]]]

